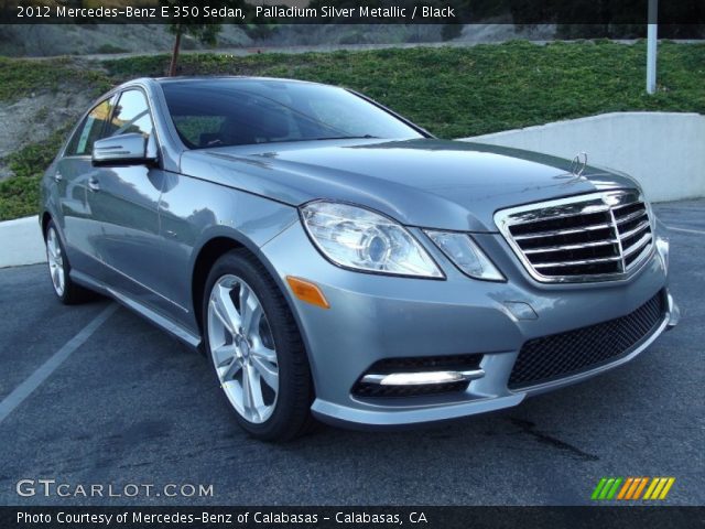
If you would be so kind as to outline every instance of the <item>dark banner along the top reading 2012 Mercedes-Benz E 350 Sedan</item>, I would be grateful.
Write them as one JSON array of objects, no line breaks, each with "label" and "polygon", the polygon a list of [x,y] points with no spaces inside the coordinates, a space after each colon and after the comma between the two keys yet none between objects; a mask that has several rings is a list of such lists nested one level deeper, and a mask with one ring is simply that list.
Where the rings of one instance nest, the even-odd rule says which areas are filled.
[{"label": "dark banner along the top reading 2012 Mercedes-Benz E 350 Sedan", "polygon": [[[705,24],[703,0],[0,0],[0,23],[170,24]],[[655,3],[655,2],[654,2]]]}]

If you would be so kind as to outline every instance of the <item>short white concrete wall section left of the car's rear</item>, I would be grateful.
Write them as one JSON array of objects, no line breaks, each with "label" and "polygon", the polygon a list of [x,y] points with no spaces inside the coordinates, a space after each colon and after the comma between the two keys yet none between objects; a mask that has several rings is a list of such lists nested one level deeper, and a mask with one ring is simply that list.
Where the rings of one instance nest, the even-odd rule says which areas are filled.
[{"label": "short white concrete wall section left of the car's rear", "polygon": [[0,268],[46,261],[36,215],[0,223]]}]

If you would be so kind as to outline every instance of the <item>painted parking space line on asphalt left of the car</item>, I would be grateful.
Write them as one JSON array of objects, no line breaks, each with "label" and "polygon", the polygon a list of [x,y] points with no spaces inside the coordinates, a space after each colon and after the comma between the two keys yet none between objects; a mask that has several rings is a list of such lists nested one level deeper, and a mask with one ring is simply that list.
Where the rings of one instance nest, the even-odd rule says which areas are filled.
[{"label": "painted parking space line on asphalt left of the car", "polygon": [[61,349],[54,353],[44,364],[42,364],[42,366],[30,375],[26,380],[14,388],[14,390],[8,395],[2,402],[0,402],[0,423],[2,423],[2,421],[4,421],[8,415],[24,401],[24,399],[32,395],[32,392],[39,388],[74,350],[80,347],[90,337],[90,335],[112,315],[118,306],[119,305],[117,303],[110,303],[106,306],[102,312],[94,317],[76,336],[66,342]]}]

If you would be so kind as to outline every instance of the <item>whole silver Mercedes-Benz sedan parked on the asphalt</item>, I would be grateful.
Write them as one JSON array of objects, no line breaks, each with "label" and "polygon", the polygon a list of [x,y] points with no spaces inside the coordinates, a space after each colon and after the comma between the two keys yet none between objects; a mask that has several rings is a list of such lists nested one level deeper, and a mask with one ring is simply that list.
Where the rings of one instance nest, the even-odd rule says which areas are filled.
[{"label": "whole silver Mercedes-Benz sedan parked on the asphalt", "polygon": [[633,180],[438,140],[343,88],[127,83],[41,191],[58,298],[101,292],[202,348],[260,439],[514,406],[677,320]]}]

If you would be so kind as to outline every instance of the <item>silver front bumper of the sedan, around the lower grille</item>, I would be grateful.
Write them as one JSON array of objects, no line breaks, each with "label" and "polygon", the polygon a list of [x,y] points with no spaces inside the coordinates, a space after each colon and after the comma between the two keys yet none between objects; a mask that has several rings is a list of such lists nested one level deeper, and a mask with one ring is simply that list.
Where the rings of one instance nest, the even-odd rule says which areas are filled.
[{"label": "silver front bumper of the sedan, around the lower grille", "polygon": [[[417,229],[412,229],[446,280],[397,278],[337,268],[313,247],[299,223],[261,248],[284,285],[286,276],[314,281],[330,309],[296,300],[284,288],[310,355],[316,399],[313,413],[351,427],[393,427],[443,421],[516,406],[527,396],[589,378],[629,361],[669,324],[677,307],[665,290],[668,256],[655,251],[626,281],[538,284],[498,234],[475,235],[508,281],[462,274]],[[511,390],[510,374],[522,345],[632,313],[659,292],[660,320],[612,361],[540,385]],[[352,392],[376,363],[393,358],[482,355],[467,389],[438,395],[377,398]],[[436,374],[437,375],[437,374]]]}]

